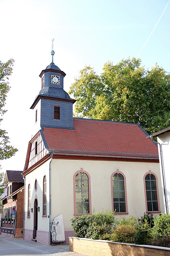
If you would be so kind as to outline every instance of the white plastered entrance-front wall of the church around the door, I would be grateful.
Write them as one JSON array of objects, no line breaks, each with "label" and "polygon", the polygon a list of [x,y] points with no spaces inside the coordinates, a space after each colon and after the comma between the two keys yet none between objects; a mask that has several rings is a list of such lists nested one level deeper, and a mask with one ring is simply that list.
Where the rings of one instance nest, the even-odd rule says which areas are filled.
[{"label": "white plastered entrance-front wall of the church around the door", "polygon": [[[25,193],[25,229],[34,229],[34,202],[37,198],[40,212],[38,212],[38,230],[48,231],[49,230],[49,161],[42,164],[40,167],[26,175],[26,193]],[[43,177],[46,176],[46,198],[47,198],[47,216],[42,217],[42,198],[43,198]],[[38,181],[38,188],[35,191],[35,180]],[[31,208],[30,218],[27,217],[28,210],[28,185],[30,184],[30,198]]]}]

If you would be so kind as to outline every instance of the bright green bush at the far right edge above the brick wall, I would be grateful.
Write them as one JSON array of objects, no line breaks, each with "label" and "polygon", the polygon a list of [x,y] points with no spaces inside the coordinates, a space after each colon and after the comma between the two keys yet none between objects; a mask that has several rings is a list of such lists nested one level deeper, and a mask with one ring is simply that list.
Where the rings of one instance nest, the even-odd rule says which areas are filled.
[{"label": "bright green bush at the far right edge above the brick wall", "polygon": [[154,219],[152,236],[154,245],[170,246],[170,214],[162,214]]}]

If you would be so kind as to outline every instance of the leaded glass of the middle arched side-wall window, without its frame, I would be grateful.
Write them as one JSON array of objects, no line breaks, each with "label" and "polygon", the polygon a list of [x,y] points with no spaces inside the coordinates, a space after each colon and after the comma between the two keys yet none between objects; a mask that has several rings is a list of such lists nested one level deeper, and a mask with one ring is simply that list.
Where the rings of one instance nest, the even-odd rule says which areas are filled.
[{"label": "leaded glass of the middle arched side-wall window, without its frame", "polygon": [[125,186],[122,174],[115,173],[112,177],[114,211],[126,212]]}]

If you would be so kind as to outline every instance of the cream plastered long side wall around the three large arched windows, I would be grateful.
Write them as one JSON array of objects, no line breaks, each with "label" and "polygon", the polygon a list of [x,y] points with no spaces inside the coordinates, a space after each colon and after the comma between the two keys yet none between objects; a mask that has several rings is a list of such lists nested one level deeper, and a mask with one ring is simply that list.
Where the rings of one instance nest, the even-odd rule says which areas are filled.
[{"label": "cream plastered long side wall around the three large arched windows", "polygon": [[146,212],[143,176],[149,170],[158,177],[160,210],[164,212],[159,163],[61,160],[53,159],[51,165],[51,221],[63,214],[65,231],[71,230],[74,214],[73,175],[83,168],[91,177],[92,210],[112,209],[111,174],[119,169],[126,176],[128,213],[140,217]]}]

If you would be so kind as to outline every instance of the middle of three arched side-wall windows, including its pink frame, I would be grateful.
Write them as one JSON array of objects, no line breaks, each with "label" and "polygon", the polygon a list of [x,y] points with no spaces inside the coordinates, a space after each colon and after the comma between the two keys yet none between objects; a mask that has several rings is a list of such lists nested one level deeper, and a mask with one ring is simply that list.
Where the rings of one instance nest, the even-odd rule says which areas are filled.
[{"label": "middle of three arched side-wall windows, including its pink frame", "polygon": [[119,214],[128,213],[126,178],[125,175],[117,170],[111,175],[112,186],[112,210]]}]

